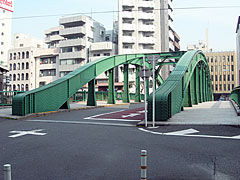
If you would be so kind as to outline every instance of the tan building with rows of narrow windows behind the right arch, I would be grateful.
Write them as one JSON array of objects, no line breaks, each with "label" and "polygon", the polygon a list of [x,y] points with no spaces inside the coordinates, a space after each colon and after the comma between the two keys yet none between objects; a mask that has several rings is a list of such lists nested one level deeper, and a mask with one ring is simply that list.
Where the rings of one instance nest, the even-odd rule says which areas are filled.
[{"label": "tan building with rows of narrow windows behind the right arch", "polygon": [[234,51],[206,53],[214,99],[227,98],[237,82],[237,56]]}]

